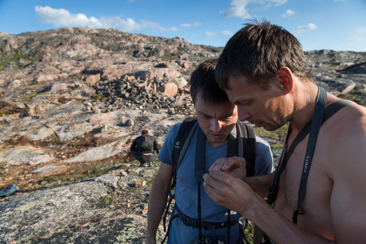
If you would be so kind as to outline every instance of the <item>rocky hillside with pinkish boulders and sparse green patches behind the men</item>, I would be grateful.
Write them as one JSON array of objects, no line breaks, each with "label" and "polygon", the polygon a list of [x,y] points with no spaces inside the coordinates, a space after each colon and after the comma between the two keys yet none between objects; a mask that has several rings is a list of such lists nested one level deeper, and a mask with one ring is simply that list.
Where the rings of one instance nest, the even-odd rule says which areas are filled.
[{"label": "rocky hillside with pinkish boulders and sparse green patches behind the men", "polygon": [[[221,50],[113,29],[0,32],[0,242],[143,243],[158,162],[137,167],[131,140],[148,129],[162,144],[193,114],[189,75]],[[366,53],[306,55],[317,84],[365,105]],[[278,158],[283,130],[258,133]]]}]

